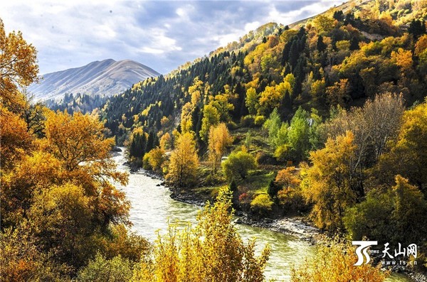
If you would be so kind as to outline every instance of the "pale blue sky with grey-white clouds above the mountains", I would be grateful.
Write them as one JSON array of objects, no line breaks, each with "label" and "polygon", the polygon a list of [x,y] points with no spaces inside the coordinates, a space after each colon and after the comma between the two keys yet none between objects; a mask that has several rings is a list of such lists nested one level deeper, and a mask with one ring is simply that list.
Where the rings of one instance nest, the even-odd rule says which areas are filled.
[{"label": "pale blue sky with grey-white clouds above the mountains", "polygon": [[6,33],[22,31],[41,74],[131,59],[166,74],[258,26],[289,24],[341,1],[0,1]]}]

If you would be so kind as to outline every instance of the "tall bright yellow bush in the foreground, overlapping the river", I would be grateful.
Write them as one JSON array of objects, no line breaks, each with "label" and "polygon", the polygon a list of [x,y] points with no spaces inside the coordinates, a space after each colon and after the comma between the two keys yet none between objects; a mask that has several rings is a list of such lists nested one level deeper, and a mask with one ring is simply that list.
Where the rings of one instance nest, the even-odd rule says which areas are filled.
[{"label": "tall bright yellow bush in the foreground, overlapping the river", "polygon": [[243,244],[231,224],[231,192],[221,188],[197,217],[198,225],[169,226],[151,260],[135,267],[132,281],[264,281],[268,247],[255,256],[255,240]]}]

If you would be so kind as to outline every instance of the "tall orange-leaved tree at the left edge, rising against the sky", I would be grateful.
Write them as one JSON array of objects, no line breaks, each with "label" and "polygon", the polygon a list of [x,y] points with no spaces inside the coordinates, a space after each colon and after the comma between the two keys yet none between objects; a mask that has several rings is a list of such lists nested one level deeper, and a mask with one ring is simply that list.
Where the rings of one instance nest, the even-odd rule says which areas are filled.
[{"label": "tall orange-leaved tree at the left edge, rising against the sky", "polygon": [[21,119],[26,106],[22,94],[37,80],[36,48],[26,43],[22,33],[6,35],[0,18],[0,161],[2,170],[11,166],[31,147],[31,132]]}]

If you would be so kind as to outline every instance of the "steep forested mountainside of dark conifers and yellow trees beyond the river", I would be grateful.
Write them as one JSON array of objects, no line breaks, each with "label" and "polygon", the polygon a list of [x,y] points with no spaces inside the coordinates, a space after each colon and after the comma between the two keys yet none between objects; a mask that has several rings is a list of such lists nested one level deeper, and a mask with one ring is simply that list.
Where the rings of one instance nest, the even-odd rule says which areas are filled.
[{"label": "steep forested mountainside of dark conifers and yellow trees beyond the river", "polygon": [[101,118],[118,143],[141,130],[180,130],[191,119],[203,151],[200,131],[212,111],[238,128],[260,126],[275,108],[283,121],[300,107],[325,120],[384,92],[411,106],[426,96],[426,19],[426,1],[354,0],[288,26],[268,23],[110,97]]}]

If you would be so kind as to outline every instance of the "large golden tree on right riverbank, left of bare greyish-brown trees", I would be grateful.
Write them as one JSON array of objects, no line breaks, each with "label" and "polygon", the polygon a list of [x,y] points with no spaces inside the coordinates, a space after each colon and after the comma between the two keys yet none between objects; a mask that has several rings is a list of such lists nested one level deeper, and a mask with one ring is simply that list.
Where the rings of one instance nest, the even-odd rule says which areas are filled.
[{"label": "large golden tree on right riverbank, left of bare greyish-brown trees", "polygon": [[312,166],[302,173],[302,187],[307,202],[313,204],[310,217],[319,228],[342,228],[344,211],[357,200],[352,172],[356,148],[354,135],[347,131],[310,153]]}]

